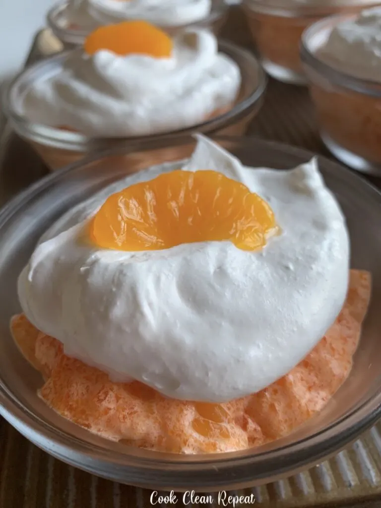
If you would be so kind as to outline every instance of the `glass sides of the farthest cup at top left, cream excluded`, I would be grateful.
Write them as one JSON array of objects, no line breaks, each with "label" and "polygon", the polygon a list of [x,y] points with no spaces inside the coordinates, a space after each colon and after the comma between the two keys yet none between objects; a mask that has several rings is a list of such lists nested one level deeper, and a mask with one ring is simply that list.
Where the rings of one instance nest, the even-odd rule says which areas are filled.
[{"label": "glass sides of the farthest cup at top left, cream excluded", "polygon": [[[213,0],[212,10],[206,18],[185,25],[161,26],[161,28],[171,36],[180,30],[195,27],[210,28],[215,35],[218,35],[225,22],[228,9],[229,6],[224,0]],[[48,11],[46,19],[53,34],[69,49],[73,46],[81,46],[90,31],[98,26],[98,23],[94,22],[94,25],[87,27],[70,25],[67,11],[68,2],[59,2]]]}]

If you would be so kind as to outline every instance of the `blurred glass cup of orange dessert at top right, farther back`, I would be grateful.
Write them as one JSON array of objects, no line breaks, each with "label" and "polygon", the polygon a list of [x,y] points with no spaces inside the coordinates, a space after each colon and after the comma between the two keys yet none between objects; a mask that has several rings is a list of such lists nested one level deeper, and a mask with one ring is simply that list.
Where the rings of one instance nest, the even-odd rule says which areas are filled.
[{"label": "blurred glass cup of orange dessert at top right, farther back", "polygon": [[284,83],[306,84],[299,56],[303,31],[310,24],[337,13],[356,13],[377,2],[351,0],[331,4],[289,5],[271,0],[244,0],[247,21],[265,70]]}]

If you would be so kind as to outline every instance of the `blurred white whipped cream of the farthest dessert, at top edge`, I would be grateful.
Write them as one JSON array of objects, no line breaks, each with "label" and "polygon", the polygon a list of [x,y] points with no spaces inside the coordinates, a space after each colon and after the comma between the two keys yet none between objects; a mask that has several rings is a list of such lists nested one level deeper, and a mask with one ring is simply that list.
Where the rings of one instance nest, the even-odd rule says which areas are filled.
[{"label": "blurred white whipped cream of the farthest dessert, at top edge", "polygon": [[71,0],[67,17],[82,27],[130,19],[170,27],[201,21],[211,8],[211,0]]}]

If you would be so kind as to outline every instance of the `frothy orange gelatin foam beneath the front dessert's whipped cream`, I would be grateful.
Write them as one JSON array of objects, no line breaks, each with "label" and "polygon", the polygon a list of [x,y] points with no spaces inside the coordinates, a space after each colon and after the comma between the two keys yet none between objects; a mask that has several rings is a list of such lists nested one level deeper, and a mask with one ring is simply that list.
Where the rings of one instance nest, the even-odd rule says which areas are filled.
[{"label": "frothy orange gelatin foam beneath the front dessert's whipped cream", "polygon": [[236,451],[289,434],[327,404],[350,373],[370,285],[368,272],[352,270],[339,316],[307,357],[268,388],[224,404],[168,399],[137,381],[112,383],[101,370],[66,356],[58,340],[36,330],[23,314],[13,317],[11,330],[44,375],[40,396],[72,422],[152,450]]}]

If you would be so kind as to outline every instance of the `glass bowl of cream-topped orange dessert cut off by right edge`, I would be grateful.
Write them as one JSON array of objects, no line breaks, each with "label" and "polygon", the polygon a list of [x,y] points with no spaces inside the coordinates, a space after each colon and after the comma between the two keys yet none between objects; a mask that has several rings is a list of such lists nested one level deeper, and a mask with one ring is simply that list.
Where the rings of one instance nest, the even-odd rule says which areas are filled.
[{"label": "glass bowl of cream-topped orange dessert cut off by right edge", "polygon": [[301,58],[328,149],[348,166],[381,176],[381,60],[372,48],[377,19],[380,8],[312,25],[303,35]]}]

